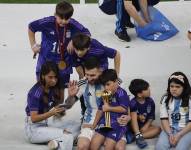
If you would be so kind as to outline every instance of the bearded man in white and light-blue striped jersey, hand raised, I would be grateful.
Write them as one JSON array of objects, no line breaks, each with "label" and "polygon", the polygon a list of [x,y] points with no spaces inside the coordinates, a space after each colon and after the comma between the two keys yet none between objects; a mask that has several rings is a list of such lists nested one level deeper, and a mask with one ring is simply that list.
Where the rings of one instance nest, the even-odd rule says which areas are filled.
[{"label": "bearded man in white and light-blue striped jersey, hand raised", "polygon": [[[81,96],[84,97],[86,106],[81,132],[78,136],[77,149],[89,150],[94,130],[92,128],[99,105],[101,104],[101,95],[104,87],[99,82],[99,77],[102,74],[99,61],[96,57],[88,58],[84,63],[85,79],[82,79],[78,84],[71,81],[68,86],[69,97],[66,99],[66,104],[73,105]],[[118,122],[126,126],[130,117],[127,115],[118,116]],[[118,145],[126,145],[126,139],[120,140]]]}]

